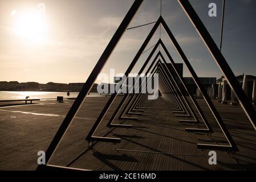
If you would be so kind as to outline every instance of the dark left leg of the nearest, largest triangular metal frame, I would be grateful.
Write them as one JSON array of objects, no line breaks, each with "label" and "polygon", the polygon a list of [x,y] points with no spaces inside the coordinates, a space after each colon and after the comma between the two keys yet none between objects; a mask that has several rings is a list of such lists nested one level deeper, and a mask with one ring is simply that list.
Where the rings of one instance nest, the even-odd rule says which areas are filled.
[{"label": "dark left leg of the nearest, largest triangular metal frame", "polygon": [[[133,2],[128,13],[125,15],[120,26],[117,28],[115,34],[113,35],[110,42],[108,43],[108,46],[105,48],[104,52],[100,56],[100,59],[97,61],[97,64],[92,70],[90,76],[87,78],[87,81],[85,82],[83,88],[79,92],[78,97],[76,97],[76,100],[74,101],[66,117],[64,118],[62,124],[60,125],[58,131],[56,132],[54,138],[52,139],[50,146],[47,148],[46,165],[38,165],[38,168],[37,168],[38,170],[47,169],[50,167],[61,168],[60,166],[52,166],[48,163],[52,158],[52,155],[54,154],[56,148],[59,146],[59,143],[61,142],[62,138],[64,137],[64,134],[68,130],[68,127],[71,125],[71,122],[75,118],[75,115],[78,113],[78,110],[80,109],[84,100],[86,99],[87,94],[90,92],[92,85],[94,84],[101,69],[104,67],[105,63],[107,63],[109,56],[111,55],[112,51],[115,49],[117,43],[121,39],[121,36],[123,36],[124,32],[127,30],[127,27],[129,23],[132,21],[133,16],[135,16],[135,14],[137,13],[137,10],[139,9],[141,3],[143,3],[143,0],[135,0]],[[65,169],[74,170],[74,168],[65,168]]]}]

